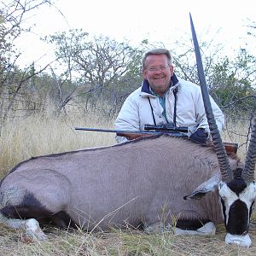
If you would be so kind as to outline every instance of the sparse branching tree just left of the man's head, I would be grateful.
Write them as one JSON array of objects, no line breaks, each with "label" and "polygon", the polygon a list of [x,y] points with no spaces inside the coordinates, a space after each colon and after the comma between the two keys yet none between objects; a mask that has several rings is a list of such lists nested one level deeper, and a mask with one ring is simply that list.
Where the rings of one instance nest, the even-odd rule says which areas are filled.
[{"label": "sparse branching tree just left of the man's head", "polygon": [[[77,90],[69,90],[72,96],[67,91],[62,95],[66,94],[69,98],[79,96],[85,109],[97,108],[101,103],[112,106],[102,108],[105,113],[117,111],[120,99],[127,96],[129,84],[123,82],[137,70],[140,50],[108,37],[90,38],[82,30],[56,33],[45,40],[55,44],[55,55],[62,67],[62,80],[77,84]],[[128,88],[128,92],[132,89]]]}]

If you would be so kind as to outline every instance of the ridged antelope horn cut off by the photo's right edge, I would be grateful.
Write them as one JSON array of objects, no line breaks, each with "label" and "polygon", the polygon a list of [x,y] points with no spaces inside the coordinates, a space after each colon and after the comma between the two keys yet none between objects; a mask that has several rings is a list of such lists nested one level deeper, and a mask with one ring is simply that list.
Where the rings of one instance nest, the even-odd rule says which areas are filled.
[{"label": "ridged antelope horn cut off by the photo's right edge", "polygon": [[254,180],[254,170],[256,165],[256,116],[253,119],[252,134],[247,151],[247,158],[244,171],[241,173],[241,177],[250,183]]}]

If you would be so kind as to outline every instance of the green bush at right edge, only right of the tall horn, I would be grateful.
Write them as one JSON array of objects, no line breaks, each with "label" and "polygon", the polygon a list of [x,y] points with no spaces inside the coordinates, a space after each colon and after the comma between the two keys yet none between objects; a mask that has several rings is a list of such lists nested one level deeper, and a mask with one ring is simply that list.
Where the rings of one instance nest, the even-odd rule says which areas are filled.
[{"label": "green bush at right edge, only right of the tall horn", "polygon": [[255,64],[256,58],[241,49],[234,61],[224,57],[213,65],[209,76],[212,84],[210,92],[225,113],[234,117],[253,113]]}]

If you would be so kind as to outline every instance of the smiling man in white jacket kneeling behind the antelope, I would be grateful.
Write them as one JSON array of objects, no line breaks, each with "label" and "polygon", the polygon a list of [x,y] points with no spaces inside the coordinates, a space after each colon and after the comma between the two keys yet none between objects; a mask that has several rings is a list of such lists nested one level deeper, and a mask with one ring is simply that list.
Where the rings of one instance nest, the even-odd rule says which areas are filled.
[{"label": "smiling man in white jacket kneeling behind the antelope", "polygon": [[[210,135],[201,88],[189,81],[177,79],[173,71],[172,56],[167,49],[153,49],[143,57],[143,84],[128,96],[122,106],[115,129],[143,131],[144,125],[173,123],[188,126],[188,136],[205,143]],[[224,114],[213,101],[212,110],[218,130],[224,128]],[[121,134],[118,143],[143,137],[143,134]]]}]

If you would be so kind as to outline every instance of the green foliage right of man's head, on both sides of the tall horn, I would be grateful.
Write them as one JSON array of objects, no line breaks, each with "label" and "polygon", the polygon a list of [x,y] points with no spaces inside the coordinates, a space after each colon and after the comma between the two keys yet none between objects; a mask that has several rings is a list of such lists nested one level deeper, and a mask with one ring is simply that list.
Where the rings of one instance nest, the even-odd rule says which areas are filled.
[{"label": "green foliage right of man's head, on both sides of the tall horn", "polygon": [[[178,77],[200,84],[192,45],[182,44],[174,52],[175,72]],[[212,42],[201,44],[201,56],[207,85],[211,96],[224,113],[231,119],[250,119],[255,112],[256,56],[247,49],[240,49],[228,57],[220,51],[220,45],[212,47]]]}]

